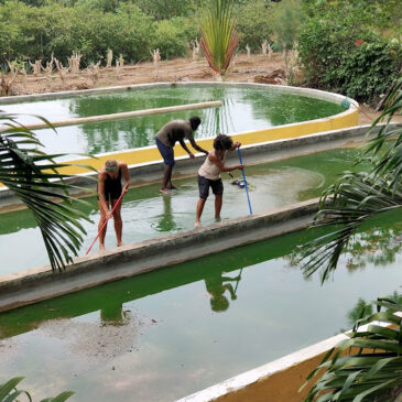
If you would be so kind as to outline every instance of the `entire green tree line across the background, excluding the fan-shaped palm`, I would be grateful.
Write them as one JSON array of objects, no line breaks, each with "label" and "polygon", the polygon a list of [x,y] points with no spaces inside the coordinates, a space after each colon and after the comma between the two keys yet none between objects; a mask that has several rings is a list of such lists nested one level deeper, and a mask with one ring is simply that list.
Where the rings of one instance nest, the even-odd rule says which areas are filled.
[{"label": "entire green tree line across the background, excluding the fan-shaped palm", "polygon": [[[402,67],[400,0],[232,0],[239,51],[296,48],[305,85],[374,104]],[[63,63],[73,52],[82,67],[108,48],[126,63],[191,54],[199,40],[202,0],[0,0],[0,68],[7,61]]]}]

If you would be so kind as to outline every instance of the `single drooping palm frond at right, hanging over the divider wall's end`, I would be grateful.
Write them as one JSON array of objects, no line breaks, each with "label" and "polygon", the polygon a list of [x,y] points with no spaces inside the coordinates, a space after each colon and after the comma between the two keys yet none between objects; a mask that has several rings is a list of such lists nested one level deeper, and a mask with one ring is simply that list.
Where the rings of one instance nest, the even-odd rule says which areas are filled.
[{"label": "single drooping palm frond at right, hanging over the divider wall's end", "polygon": [[401,184],[390,189],[381,177],[346,173],[323,195],[320,209],[312,225],[334,229],[301,247],[302,260],[305,260],[302,267],[304,274],[309,276],[320,270],[322,282],[327,280],[337,268],[351,236],[362,224],[401,207]]}]

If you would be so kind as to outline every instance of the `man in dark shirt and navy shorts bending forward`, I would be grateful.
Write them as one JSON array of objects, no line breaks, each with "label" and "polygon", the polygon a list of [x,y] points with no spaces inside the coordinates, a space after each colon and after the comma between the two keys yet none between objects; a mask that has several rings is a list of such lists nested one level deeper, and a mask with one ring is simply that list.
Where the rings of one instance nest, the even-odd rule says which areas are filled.
[{"label": "man in dark shirt and navy shorts bending forward", "polygon": [[206,155],[208,151],[203,150],[196,144],[194,140],[194,131],[197,130],[200,124],[199,117],[192,117],[188,121],[186,120],[173,120],[167,124],[163,126],[156,134],[156,146],[161,152],[163,162],[165,164],[162,186],[160,192],[163,194],[171,194],[171,189],[176,188],[172,184],[172,171],[174,166],[174,145],[176,141],[180,142],[184,151],[188,153],[191,159],[194,159],[194,154],[188,150],[184,139],[188,140],[192,146],[198,152],[204,152]]}]

